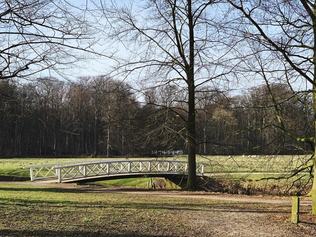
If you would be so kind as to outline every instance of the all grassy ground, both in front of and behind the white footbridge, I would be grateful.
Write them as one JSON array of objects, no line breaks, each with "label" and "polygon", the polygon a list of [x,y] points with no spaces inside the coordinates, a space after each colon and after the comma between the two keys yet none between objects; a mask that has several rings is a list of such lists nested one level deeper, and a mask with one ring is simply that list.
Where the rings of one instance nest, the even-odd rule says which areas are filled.
[{"label": "all grassy ground, both in front of and behind the white footbridge", "polygon": [[[177,158],[183,160],[185,157]],[[224,191],[227,188],[233,193],[246,193],[244,191],[250,190],[249,194],[260,195],[282,194],[291,186],[290,181],[241,180],[245,177],[264,177],[267,174],[261,173],[263,170],[285,172],[294,167],[294,164],[304,162],[303,157],[292,159],[290,156],[282,156],[273,159],[242,156],[215,156],[206,159],[198,157],[198,161],[208,162],[206,171],[210,172],[212,169],[218,172],[215,178],[212,176],[212,180],[217,182],[215,187]],[[23,169],[23,166],[73,160],[78,159],[0,159],[0,175],[29,176],[29,170]],[[252,165],[253,168],[250,167]],[[0,236],[316,235],[316,219],[310,214],[310,206],[301,206],[302,222],[293,225],[289,222],[290,204],[277,204],[274,201],[265,203],[265,198],[261,198],[263,202],[237,202],[234,201],[236,196],[230,196],[233,199],[228,200],[223,197],[207,199],[206,193],[198,192],[163,191],[165,194],[159,195],[150,190],[140,190],[136,194],[117,191],[117,187],[121,186],[146,188],[148,180],[126,179],[91,184],[110,188],[0,182]],[[159,179],[153,179],[155,181]],[[170,185],[167,188],[177,187]],[[206,188],[217,191],[212,190],[214,186]],[[300,192],[295,187],[293,190],[288,194]]]}]

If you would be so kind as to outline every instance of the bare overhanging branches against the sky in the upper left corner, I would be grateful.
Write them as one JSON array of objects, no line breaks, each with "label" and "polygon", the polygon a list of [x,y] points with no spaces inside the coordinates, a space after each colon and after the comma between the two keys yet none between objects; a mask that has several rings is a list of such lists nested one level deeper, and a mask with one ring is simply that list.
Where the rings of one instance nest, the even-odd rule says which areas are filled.
[{"label": "bare overhanging branches against the sky in the upper left corner", "polygon": [[63,0],[0,1],[0,79],[73,67],[93,52],[91,17]]}]

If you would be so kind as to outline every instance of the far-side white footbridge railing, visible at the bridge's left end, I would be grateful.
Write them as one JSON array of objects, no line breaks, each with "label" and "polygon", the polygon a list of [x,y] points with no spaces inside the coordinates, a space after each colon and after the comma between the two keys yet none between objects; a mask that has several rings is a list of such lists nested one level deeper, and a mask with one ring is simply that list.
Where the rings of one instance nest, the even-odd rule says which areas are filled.
[{"label": "far-side white footbridge railing, visible at the bridge's left end", "polygon": [[57,178],[58,174],[55,168],[59,166],[76,165],[76,164],[100,162],[100,161],[104,161],[104,160],[100,159],[100,160],[67,161],[67,162],[59,162],[59,163],[51,163],[51,164],[24,166],[23,168],[30,169],[31,181],[35,181],[35,180]]}]

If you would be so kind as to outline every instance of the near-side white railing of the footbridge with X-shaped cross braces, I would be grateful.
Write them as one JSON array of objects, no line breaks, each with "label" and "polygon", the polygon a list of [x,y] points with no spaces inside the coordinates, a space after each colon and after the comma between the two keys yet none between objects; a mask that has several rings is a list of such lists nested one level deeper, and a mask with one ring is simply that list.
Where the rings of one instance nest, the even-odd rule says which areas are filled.
[{"label": "near-side white railing of the footbridge with X-shaped cross braces", "polygon": [[[58,182],[103,175],[132,173],[186,174],[188,163],[175,160],[116,160],[57,166]],[[196,163],[196,173],[203,175],[204,164]]]}]

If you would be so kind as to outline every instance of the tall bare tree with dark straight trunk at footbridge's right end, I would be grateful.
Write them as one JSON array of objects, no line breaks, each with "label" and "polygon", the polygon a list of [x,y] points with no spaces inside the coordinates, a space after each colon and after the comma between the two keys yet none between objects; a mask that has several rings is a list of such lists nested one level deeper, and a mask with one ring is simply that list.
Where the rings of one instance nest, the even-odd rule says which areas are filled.
[{"label": "tall bare tree with dark straight trunk at footbridge's right end", "polygon": [[[141,93],[167,84],[179,88],[173,103],[155,106],[172,110],[185,123],[189,189],[197,188],[195,92],[205,84],[216,87],[230,72],[222,67],[229,47],[214,22],[213,12],[221,11],[217,3],[157,0],[102,5],[111,27],[110,37],[131,55],[120,60],[118,72],[137,78]],[[179,104],[184,106],[179,108]]]}]

